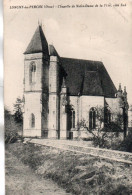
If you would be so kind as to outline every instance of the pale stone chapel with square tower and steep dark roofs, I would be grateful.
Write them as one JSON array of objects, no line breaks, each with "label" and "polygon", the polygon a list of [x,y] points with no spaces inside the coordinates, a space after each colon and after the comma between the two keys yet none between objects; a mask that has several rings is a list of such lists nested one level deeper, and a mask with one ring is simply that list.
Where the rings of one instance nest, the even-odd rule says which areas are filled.
[{"label": "pale stone chapel with square tower and steep dark roofs", "polygon": [[24,137],[76,138],[82,120],[98,127],[97,107],[106,108],[107,123],[121,111],[121,99],[127,101],[126,89],[116,90],[102,62],[60,57],[41,25],[24,56]]}]

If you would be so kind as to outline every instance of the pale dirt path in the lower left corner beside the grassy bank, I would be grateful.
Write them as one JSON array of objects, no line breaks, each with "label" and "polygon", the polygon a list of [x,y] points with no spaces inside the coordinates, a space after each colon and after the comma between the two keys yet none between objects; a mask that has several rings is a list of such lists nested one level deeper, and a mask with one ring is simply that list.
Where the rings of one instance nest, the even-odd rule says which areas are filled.
[{"label": "pale dirt path in the lower left corner beside the grassy bank", "polygon": [[6,151],[6,195],[71,195],[51,180],[40,178]]}]

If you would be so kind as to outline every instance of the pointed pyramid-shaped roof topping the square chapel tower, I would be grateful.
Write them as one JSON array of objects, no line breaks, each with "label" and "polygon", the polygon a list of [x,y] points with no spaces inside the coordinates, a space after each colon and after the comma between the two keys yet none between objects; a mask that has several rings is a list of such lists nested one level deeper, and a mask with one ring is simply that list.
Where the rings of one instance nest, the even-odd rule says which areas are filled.
[{"label": "pointed pyramid-shaped roof topping the square chapel tower", "polygon": [[48,43],[43,33],[42,27],[39,25],[24,54],[40,52],[48,55]]}]

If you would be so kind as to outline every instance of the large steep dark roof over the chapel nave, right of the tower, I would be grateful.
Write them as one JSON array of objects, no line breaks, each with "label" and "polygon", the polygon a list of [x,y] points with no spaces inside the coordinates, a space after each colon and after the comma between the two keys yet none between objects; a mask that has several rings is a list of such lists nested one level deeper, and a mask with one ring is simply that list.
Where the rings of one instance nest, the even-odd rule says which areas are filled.
[{"label": "large steep dark roof over the chapel nave, right of the tower", "polygon": [[69,95],[115,97],[117,92],[102,62],[61,57]]}]

